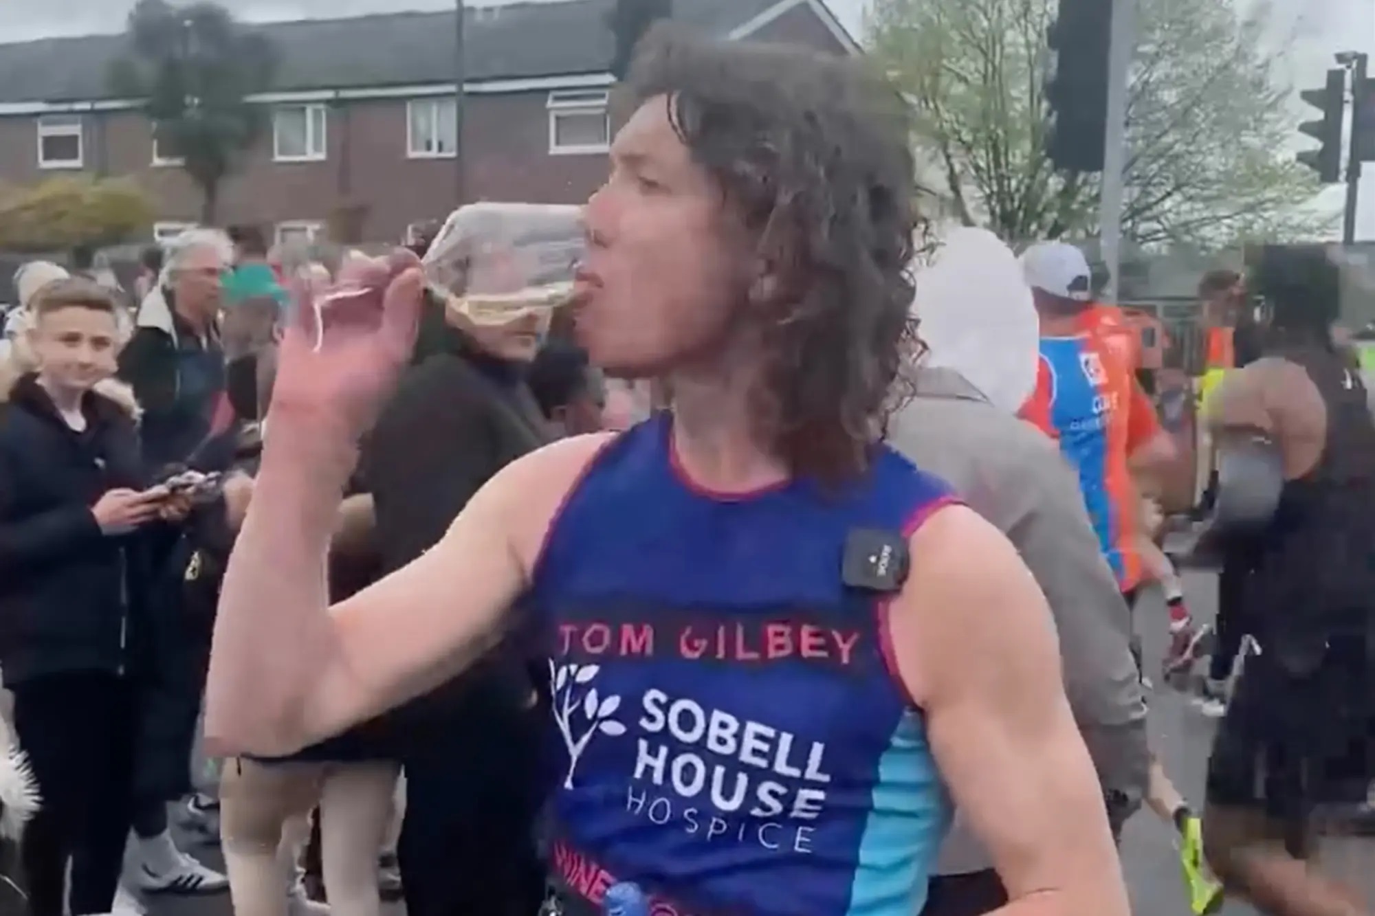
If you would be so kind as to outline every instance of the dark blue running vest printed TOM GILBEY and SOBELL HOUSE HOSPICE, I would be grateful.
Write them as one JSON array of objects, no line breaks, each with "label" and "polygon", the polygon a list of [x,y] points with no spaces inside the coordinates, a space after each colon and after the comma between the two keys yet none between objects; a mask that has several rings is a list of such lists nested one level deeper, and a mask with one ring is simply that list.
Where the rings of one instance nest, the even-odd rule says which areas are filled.
[{"label": "dark blue running vest printed TOM GILBEY and SOBELL HOUSE HOSPICE", "polygon": [[657,916],[912,916],[949,824],[855,528],[910,535],[949,490],[888,448],[839,494],[714,497],[660,414],[553,521],[529,594],[553,640],[551,871]]}]

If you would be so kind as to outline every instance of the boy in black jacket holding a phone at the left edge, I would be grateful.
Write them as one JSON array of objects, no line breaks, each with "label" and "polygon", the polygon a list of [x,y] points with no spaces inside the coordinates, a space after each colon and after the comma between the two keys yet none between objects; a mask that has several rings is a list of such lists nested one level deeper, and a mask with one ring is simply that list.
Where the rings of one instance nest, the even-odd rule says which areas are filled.
[{"label": "boy in black jacket holding a phone at the left edge", "polygon": [[129,831],[131,681],[147,528],[184,513],[146,488],[131,403],[94,391],[116,369],[116,303],[84,279],[33,304],[37,371],[0,406],[0,664],[43,809],[22,858],[34,916],[111,909]]}]

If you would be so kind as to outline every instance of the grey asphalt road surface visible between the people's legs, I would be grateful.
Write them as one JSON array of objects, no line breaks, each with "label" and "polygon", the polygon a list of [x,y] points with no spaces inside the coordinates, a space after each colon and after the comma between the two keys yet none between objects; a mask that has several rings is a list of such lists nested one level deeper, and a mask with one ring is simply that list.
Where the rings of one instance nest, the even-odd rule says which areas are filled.
[{"label": "grey asphalt road surface visible between the people's legs", "polygon": [[[1216,578],[1207,574],[1185,574],[1189,607],[1199,620],[1211,620],[1217,612]],[[1148,673],[1160,667],[1165,651],[1166,613],[1160,600],[1148,594],[1137,609],[1137,630],[1145,649]],[[1195,711],[1178,693],[1156,682],[1151,696],[1151,737],[1180,791],[1200,806],[1203,777],[1214,723]],[[219,866],[219,851],[195,849],[206,864]],[[1368,899],[1375,899],[1375,840],[1349,840],[1341,850],[1341,861],[1353,864],[1356,873],[1365,875]],[[1180,877],[1178,857],[1174,851],[1174,832],[1143,810],[1126,827],[1122,840],[1122,860],[1132,891],[1136,916],[1188,916],[1188,902]],[[1364,868],[1361,868],[1364,864]],[[402,916],[403,908],[388,906],[385,916]],[[1222,916],[1254,916],[1250,906],[1228,904]],[[158,898],[153,901],[151,916],[232,916],[228,895],[201,899]]]}]

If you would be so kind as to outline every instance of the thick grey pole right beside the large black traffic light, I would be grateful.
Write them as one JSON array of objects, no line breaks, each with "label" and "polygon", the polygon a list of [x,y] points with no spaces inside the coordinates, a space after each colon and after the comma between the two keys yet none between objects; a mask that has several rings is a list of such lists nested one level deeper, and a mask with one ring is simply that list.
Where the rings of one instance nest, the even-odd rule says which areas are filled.
[{"label": "thick grey pole right beside the large black traffic light", "polygon": [[1122,270],[1122,201],[1126,171],[1126,102],[1132,78],[1132,55],[1136,51],[1137,0],[1112,0],[1112,43],[1108,51],[1108,114],[1103,138],[1103,194],[1099,206],[1099,232],[1108,283],[1104,297],[1118,301]]}]

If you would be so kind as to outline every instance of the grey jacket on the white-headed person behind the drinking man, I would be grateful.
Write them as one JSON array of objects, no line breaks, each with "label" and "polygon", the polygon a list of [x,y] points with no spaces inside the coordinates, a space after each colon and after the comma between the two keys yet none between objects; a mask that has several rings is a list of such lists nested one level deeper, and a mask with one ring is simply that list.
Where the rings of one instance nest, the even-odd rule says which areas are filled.
[{"label": "grey jacket on the white-headed person behind the drinking man", "polygon": [[[1022,553],[1055,616],[1070,707],[1119,825],[1145,794],[1145,700],[1128,607],[1099,550],[1078,477],[1053,441],[952,369],[917,370],[917,396],[892,418],[888,441],[946,479]],[[990,866],[957,813],[936,873]]]}]

